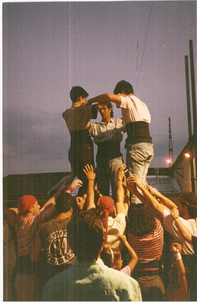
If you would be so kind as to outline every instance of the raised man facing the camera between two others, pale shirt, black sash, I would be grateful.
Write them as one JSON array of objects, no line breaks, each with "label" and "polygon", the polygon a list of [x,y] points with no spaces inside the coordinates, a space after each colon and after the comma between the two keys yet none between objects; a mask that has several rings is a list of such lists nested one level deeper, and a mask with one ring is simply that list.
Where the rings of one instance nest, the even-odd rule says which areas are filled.
[{"label": "raised man facing the camera between two others, pale shirt, black sash", "polygon": [[122,165],[120,142],[124,132],[122,119],[112,119],[114,116],[112,104],[108,103],[99,110],[102,121],[92,123],[89,133],[98,146],[96,155],[96,182],[103,196],[109,196],[110,182],[112,198],[116,201],[116,174]]}]

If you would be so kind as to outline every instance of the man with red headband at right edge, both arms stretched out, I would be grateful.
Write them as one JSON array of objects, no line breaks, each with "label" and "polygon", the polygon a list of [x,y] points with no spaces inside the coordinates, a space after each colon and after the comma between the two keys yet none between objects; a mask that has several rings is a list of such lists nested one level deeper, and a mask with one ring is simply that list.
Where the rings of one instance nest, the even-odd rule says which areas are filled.
[{"label": "man with red headband at right edge, both arms stretched out", "polygon": [[[136,186],[142,191],[144,196],[137,191]],[[196,277],[194,278],[194,276],[196,276],[194,248],[191,241],[188,241],[182,233],[180,233],[176,225],[176,219],[179,218],[192,236],[197,236],[197,223],[195,221],[197,217],[197,196],[192,192],[182,192],[177,206],[173,201],[158,192],[157,189],[149,185],[145,188],[136,175],[129,178],[129,191],[135,194],[141,202],[151,205],[158,211],[158,214],[163,218],[164,229],[173,236],[178,244],[181,244],[182,261],[184,266],[189,269],[186,270],[186,272],[188,272],[186,278],[190,291],[190,300],[195,301],[192,300],[196,299],[194,288],[196,287],[197,281]],[[160,202],[153,196],[159,198]],[[179,212],[179,215],[176,217],[173,217],[172,213],[170,213],[173,209],[177,209]]]}]

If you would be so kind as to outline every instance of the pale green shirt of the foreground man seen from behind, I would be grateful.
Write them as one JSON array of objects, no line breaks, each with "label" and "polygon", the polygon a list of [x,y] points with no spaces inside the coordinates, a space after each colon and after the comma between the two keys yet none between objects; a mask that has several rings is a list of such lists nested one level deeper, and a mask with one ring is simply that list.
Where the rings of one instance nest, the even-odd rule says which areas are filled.
[{"label": "pale green shirt of the foreground man seen from behind", "polygon": [[142,301],[139,284],[130,276],[96,262],[76,261],[44,287],[43,301]]}]

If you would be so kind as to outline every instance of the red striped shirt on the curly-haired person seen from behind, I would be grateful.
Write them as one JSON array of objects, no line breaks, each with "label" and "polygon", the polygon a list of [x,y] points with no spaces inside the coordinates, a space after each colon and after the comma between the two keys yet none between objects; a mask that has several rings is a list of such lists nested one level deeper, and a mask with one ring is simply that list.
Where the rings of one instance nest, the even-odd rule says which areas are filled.
[{"label": "red striped shirt on the curly-haired person seen from behind", "polygon": [[128,242],[140,263],[160,260],[163,251],[163,227],[160,220],[155,218],[155,230],[147,235],[137,237],[128,233]]}]

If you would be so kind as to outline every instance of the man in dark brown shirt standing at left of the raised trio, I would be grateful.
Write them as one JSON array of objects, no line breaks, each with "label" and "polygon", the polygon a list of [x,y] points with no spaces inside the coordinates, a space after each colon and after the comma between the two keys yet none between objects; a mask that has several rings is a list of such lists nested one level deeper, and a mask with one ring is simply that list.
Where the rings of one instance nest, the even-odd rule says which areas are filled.
[{"label": "man in dark brown shirt standing at left of the raised trio", "polygon": [[[63,113],[63,118],[70,132],[69,162],[71,165],[71,179],[76,176],[81,179],[83,186],[78,195],[86,193],[87,181],[83,173],[85,165],[94,167],[94,145],[89,135],[90,119],[97,118],[98,105],[91,105],[86,98],[88,93],[80,86],[73,86],[70,98],[73,105]],[[86,105],[86,106],[85,106]]]}]

